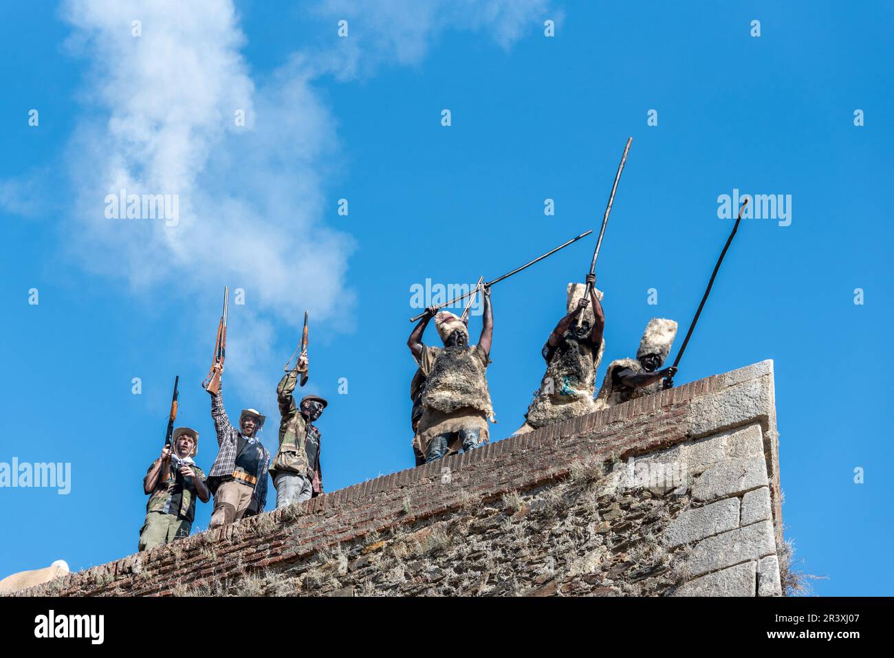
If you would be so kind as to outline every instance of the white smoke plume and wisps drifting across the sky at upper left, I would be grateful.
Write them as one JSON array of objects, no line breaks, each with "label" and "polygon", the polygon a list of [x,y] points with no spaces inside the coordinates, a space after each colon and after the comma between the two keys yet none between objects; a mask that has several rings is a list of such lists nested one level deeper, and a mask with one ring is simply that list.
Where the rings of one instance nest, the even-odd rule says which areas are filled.
[{"label": "white smoke plume and wisps drifting across the sky at upper left", "polygon": [[[508,48],[541,29],[547,4],[322,0],[311,11],[333,32],[349,20],[350,38],[296,52],[256,81],[232,0],[66,0],[74,28],[66,45],[89,64],[84,113],[66,150],[76,190],[63,227],[69,249],[90,271],[134,289],[168,284],[203,312],[198,331],[224,284],[244,288],[246,306],[237,314],[231,305],[228,381],[266,392],[257,371],[282,358],[271,351],[276,327],[297,327],[308,308],[315,323],[353,328],[346,273],[355,245],[325,222],[334,216],[325,182],[339,161],[336,122],[314,81],[419,63],[444,30],[485,30]],[[238,110],[244,127],[234,122]],[[20,183],[0,187],[13,210],[26,209]],[[122,189],[179,195],[178,224],[106,218],[106,195]],[[214,326],[205,329],[210,343]]]}]

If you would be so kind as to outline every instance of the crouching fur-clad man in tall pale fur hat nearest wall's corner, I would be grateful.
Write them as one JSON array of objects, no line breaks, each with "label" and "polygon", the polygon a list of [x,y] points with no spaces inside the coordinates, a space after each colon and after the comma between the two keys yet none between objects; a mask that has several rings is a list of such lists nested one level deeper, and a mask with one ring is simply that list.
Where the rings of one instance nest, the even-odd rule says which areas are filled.
[{"label": "crouching fur-clad man in tall pale fur hat nearest wall's corner", "polygon": [[596,397],[596,408],[605,409],[661,391],[662,379],[677,373],[677,368],[673,366],[658,370],[671,353],[676,336],[677,323],[673,320],[663,317],[649,320],[639,342],[637,359],[612,361],[605,371],[603,387]]}]

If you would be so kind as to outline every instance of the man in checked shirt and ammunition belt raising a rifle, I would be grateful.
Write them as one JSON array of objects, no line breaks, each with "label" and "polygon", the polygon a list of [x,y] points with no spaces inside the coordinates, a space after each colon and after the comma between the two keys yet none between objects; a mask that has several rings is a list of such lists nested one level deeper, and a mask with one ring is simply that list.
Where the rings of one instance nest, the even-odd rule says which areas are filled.
[{"label": "man in checked shirt and ammunition belt raising a rifle", "polygon": [[267,465],[270,463],[270,453],[257,439],[266,417],[257,409],[242,409],[240,429],[233,427],[223,409],[223,384],[221,391],[211,393],[211,418],[215,421],[220,450],[208,473],[208,488],[215,494],[215,510],[209,528],[225,526],[243,516],[264,511]]}]

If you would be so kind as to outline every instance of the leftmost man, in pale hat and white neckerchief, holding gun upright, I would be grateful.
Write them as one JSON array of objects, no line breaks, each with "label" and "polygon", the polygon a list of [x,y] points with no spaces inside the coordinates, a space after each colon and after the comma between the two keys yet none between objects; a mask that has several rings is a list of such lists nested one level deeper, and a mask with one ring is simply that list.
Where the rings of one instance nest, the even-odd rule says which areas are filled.
[{"label": "leftmost man, in pale hat and white neckerchief, holding gun upright", "polygon": [[190,427],[173,431],[173,451],[166,445],[143,478],[148,494],[146,523],[139,530],[139,550],[147,551],[189,536],[196,516],[196,497],[211,497],[205,473],[192,460],[198,451],[198,432]]}]

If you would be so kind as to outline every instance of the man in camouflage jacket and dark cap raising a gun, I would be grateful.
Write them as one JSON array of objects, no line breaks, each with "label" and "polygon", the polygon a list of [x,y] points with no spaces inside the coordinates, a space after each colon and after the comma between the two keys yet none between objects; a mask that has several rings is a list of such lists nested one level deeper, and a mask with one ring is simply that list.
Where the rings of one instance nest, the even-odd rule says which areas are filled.
[{"label": "man in camouflage jacket and dark cap raising a gun", "polygon": [[276,487],[277,510],[323,493],[321,434],[313,423],[323,414],[326,401],[318,395],[305,395],[296,405],[292,395],[299,372],[306,372],[307,365],[307,356],[301,355],[298,367],[283,375],[276,387],[276,400],[280,408],[280,443],[270,465],[270,476],[274,478]]}]

